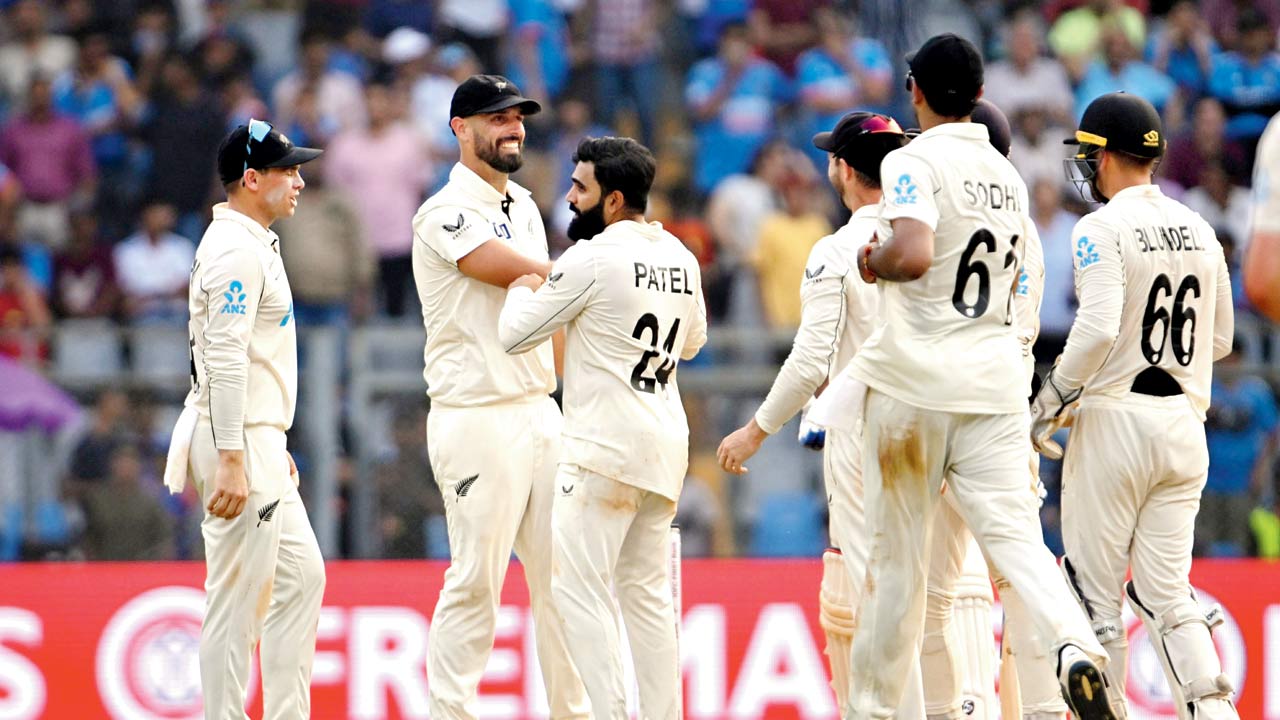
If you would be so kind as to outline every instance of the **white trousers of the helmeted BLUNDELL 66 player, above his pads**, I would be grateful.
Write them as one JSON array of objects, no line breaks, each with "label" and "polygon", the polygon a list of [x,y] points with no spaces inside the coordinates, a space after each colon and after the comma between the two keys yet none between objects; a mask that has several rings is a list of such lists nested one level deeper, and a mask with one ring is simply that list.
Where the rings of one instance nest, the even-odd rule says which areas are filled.
[{"label": "white trousers of the helmeted BLUNDELL 66 player, above his pads", "polygon": [[[1062,544],[1094,624],[1124,626],[1130,568],[1138,597],[1156,618],[1179,607],[1202,612],[1192,601],[1188,574],[1207,477],[1204,423],[1187,396],[1126,393],[1080,404],[1062,459]],[[1125,644],[1112,648],[1121,687]],[[1201,655],[1208,656],[1180,657],[1198,665],[1181,666],[1185,676],[1222,671],[1216,655]]]}]

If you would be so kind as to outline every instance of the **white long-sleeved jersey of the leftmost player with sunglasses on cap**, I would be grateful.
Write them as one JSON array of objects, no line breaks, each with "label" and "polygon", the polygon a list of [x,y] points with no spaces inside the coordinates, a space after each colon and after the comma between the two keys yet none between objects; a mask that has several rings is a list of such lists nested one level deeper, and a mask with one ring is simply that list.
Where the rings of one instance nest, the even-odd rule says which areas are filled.
[{"label": "white long-sleeved jersey of the leftmost player with sunglasses on cap", "polygon": [[298,340],[280,240],[225,202],[214,205],[188,291],[191,392],[218,450],[243,450],[244,428],[293,425]]}]

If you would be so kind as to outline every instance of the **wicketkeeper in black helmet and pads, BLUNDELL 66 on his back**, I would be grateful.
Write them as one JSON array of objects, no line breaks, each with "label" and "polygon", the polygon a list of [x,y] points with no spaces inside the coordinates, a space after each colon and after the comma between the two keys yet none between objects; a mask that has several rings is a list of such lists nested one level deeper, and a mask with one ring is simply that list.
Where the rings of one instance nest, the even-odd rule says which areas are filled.
[{"label": "wicketkeeper in black helmet and pads, BLUNDELL 66 on his back", "polygon": [[1103,95],[1069,142],[1080,146],[1068,168],[1082,193],[1088,184],[1105,205],[1071,233],[1080,307],[1032,406],[1033,442],[1061,455],[1051,436],[1079,405],[1062,461],[1062,566],[1111,656],[1117,716],[1128,596],[1178,716],[1234,719],[1211,619],[1188,582],[1213,360],[1234,331],[1226,259],[1208,223],[1151,182],[1165,137],[1149,102]]}]

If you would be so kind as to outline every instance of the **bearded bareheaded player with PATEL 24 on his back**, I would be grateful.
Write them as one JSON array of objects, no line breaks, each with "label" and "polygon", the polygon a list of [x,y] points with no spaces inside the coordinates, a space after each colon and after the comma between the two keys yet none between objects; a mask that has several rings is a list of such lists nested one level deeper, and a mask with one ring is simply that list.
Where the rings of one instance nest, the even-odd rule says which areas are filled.
[{"label": "bearded bareheaded player with PATEL 24 on his back", "polygon": [[[568,191],[579,242],[545,284],[512,283],[499,336],[524,354],[567,327],[552,589],[596,720],[626,720],[616,589],[640,717],[680,716],[667,542],[689,466],[676,372],[707,342],[698,260],[644,210],[655,164],[631,138],[585,138]],[[520,355],[517,355],[520,356]]]}]

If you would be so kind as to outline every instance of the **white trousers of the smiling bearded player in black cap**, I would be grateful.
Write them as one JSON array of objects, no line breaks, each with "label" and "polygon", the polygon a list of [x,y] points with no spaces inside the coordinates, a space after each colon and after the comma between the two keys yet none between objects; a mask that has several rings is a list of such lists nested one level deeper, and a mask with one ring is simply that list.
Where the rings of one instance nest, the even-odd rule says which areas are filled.
[{"label": "white trousers of the smiling bearded player in black cap", "polygon": [[493,651],[512,550],[525,568],[552,717],[589,716],[550,597],[552,493],[562,424],[548,396],[481,407],[434,405],[428,414],[428,454],[444,496],[452,557],[428,637],[434,720],[476,717],[476,687]]}]

